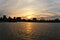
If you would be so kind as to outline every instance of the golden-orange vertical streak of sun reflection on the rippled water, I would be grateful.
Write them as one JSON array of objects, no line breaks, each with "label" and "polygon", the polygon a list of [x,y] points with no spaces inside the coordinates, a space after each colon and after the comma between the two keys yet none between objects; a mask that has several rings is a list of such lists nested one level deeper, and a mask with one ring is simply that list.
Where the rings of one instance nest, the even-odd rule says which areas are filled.
[{"label": "golden-orange vertical streak of sun reflection on the rippled water", "polygon": [[31,23],[27,23],[25,26],[25,39],[26,40],[32,40],[31,39],[31,35],[32,35],[32,24]]}]

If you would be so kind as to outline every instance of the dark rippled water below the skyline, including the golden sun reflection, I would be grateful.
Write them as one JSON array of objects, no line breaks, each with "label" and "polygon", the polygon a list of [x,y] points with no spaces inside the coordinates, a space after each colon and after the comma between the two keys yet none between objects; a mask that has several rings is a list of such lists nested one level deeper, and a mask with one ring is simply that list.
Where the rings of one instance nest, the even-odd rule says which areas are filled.
[{"label": "dark rippled water below the skyline, including the golden sun reflection", "polygon": [[0,23],[0,40],[60,40],[60,23]]}]

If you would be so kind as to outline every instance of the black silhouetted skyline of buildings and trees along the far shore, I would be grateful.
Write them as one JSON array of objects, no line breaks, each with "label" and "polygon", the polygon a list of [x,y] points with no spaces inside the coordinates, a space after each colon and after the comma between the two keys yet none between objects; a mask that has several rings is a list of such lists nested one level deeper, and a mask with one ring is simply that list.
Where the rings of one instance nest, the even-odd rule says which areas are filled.
[{"label": "black silhouetted skyline of buildings and trees along the far shore", "polygon": [[31,19],[22,19],[21,17],[6,17],[6,15],[3,15],[3,17],[0,17],[0,22],[60,22],[60,20],[58,18],[54,19],[54,20],[44,20],[44,19],[40,19],[37,20],[37,18],[32,18]]}]

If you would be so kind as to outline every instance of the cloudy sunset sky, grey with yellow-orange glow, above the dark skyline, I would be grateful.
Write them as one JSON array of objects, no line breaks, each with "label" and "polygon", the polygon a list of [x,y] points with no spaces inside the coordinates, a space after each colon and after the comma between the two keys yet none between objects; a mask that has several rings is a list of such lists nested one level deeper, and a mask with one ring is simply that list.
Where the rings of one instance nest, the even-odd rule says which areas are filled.
[{"label": "cloudy sunset sky, grey with yellow-orange glow, above the dark skyline", "polygon": [[0,16],[60,17],[60,0],[0,0]]}]

